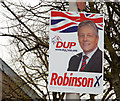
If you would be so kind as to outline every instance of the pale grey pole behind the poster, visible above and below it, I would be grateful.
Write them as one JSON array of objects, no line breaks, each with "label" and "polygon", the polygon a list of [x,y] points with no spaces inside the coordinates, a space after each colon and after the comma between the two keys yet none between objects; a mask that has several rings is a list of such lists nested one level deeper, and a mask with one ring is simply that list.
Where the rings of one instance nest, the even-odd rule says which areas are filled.
[{"label": "pale grey pole behind the poster, visible above and below it", "polygon": [[[69,11],[78,12],[76,0],[74,2],[69,2]],[[66,101],[70,100],[79,101],[79,93],[66,93]]]}]

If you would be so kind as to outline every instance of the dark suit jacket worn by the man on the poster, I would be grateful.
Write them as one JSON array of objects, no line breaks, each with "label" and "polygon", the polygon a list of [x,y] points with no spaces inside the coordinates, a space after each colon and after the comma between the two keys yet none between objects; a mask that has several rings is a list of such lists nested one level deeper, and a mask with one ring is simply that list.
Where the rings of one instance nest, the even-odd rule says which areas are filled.
[{"label": "dark suit jacket worn by the man on the poster", "polygon": [[[78,71],[82,53],[74,55],[69,61],[67,71]],[[102,73],[102,51],[98,48],[81,72]]]}]

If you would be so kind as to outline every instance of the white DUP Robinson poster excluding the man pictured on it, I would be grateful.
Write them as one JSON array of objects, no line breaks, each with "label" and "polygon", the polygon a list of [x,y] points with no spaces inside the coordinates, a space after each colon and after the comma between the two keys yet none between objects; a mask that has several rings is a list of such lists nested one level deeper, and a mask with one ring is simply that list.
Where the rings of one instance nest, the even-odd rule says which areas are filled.
[{"label": "white DUP Robinson poster excluding the man pictured on it", "polygon": [[[89,94],[103,93],[103,19],[102,14],[51,11],[49,34],[49,91]],[[98,47],[102,51],[102,71],[100,73],[79,72],[79,70],[68,71],[71,57],[83,52],[78,41],[78,24],[85,20],[95,22],[98,28]]]}]

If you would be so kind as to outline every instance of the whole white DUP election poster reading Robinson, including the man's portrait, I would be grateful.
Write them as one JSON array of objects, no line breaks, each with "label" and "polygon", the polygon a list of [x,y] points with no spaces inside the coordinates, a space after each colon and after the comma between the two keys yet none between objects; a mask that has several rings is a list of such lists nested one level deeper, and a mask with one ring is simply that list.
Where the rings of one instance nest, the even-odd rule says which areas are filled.
[{"label": "whole white DUP election poster reading Robinson, including the man's portrait", "polygon": [[49,91],[103,93],[103,19],[102,14],[51,11]]}]

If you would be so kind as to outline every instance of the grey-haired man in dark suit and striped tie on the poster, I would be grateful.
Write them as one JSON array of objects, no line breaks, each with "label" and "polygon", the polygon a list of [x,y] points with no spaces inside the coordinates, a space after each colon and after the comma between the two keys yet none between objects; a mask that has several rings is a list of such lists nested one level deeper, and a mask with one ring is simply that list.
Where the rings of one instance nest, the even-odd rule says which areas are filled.
[{"label": "grey-haired man in dark suit and striped tie on the poster", "polygon": [[98,28],[91,20],[78,25],[78,41],[83,52],[74,55],[67,71],[102,73],[102,51],[98,47]]}]

